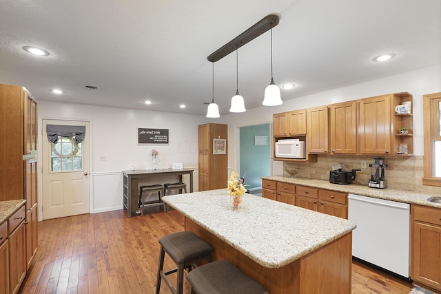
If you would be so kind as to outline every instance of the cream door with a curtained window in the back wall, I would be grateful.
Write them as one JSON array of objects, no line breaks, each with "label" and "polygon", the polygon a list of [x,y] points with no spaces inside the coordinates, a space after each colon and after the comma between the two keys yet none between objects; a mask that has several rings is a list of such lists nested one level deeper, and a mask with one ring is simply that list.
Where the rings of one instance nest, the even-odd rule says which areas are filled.
[{"label": "cream door with a curtained window in the back wall", "polygon": [[[85,126],[83,142],[59,136],[48,140],[47,125]],[[89,122],[43,120],[43,220],[90,213]]]}]

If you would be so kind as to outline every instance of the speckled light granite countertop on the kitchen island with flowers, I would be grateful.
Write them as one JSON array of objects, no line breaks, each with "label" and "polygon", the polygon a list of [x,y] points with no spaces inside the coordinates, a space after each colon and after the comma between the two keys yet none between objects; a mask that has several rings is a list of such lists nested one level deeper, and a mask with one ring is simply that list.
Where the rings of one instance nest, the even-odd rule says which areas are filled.
[{"label": "speckled light granite countertop on the kitchen island with flowers", "polygon": [[356,228],[349,220],[248,193],[235,209],[227,189],[163,201],[267,268],[285,266]]}]

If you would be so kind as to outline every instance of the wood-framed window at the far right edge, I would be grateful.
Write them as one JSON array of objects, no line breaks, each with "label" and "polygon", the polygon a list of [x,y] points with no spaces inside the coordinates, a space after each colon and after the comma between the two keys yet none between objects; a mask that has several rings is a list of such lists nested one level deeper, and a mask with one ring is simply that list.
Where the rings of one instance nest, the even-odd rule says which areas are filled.
[{"label": "wood-framed window at the far right edge", "polygon": [[441,92],[424,95],[423,185],[441,187]]}]

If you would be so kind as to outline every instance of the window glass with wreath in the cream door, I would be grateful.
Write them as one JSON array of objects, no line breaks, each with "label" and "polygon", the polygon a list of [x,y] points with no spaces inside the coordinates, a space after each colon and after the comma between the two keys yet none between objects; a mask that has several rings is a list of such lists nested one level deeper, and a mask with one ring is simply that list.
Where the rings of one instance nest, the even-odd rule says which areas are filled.
[{"label": "window glass with wreath in the cream door", "polygon": [[57,143],[51,143],[51,171],[81,171],[83,169],[82,143],[75,142],[75,136],[58,136]]}]

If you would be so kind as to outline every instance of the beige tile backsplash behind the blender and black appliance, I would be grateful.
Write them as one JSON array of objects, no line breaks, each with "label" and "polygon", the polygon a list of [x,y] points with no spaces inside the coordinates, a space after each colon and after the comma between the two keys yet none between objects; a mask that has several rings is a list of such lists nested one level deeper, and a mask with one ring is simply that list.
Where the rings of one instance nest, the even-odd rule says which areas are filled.
[{"label": "beige tile backsplash behind the blender and black appliance", "polygon": [[[283,170],[287,166],[299,167],[298,177],[314,178],[319,180],[329,180],[329,171],[336,163],[342,162],[347,165],[347,169],[361,169],[357,171],[356,180],[362,185],[367,185],[371,178],[371,168],[369,164],[373,163],[373,158],[380,156],[349,156],[349,155],[318,155],[317,162],[284,162]],[[422,176],[424,175],[424,156],[384,157],[384,163],[387,165],[384,174],[387,180],[387,187],[393,189],[402,189],[407,191],[418,191],[423,193],[441,193],[441,187],[432,187],[422,185]],[[367,168],[361,168],[361,162],[367,162]]]}]

